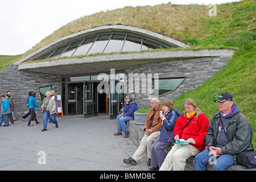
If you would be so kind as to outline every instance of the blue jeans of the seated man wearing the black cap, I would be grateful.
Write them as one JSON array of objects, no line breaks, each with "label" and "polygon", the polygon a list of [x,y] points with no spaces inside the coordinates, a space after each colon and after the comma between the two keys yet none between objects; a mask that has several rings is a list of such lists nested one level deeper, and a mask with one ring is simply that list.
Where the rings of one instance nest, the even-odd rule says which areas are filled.
[{"label": "blue jeans of the seated man wearing the black cap", "polygon": [[226,167],[234,164],[231,154],[222,154],[218,157],[209,153],[209,149],[205,149],[195,156],[196,171],[205,171],[205,165],[209,162],[213,165],[213,171],[225,171]]}]

